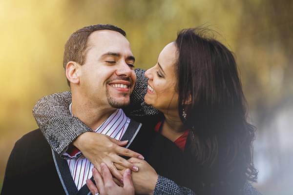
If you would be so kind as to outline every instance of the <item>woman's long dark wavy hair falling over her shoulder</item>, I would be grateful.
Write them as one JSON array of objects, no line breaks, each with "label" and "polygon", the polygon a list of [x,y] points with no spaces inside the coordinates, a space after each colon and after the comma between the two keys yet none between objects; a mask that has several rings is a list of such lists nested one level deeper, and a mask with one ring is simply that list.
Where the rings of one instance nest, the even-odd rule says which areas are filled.
[{"label": "woman's long dark wavy hair falling over her shoulder", "polygon": [[232,52],[209,38],[209,32],[206,28],[184,29],[175,41],[179,114],[182,116],[183,109],[187,113],[181,120],[191,129],[191,152],[197,162],[213,166],[225,154],[228,163],[245,163],[247,179],[256,181],[252,159],[255,127],[247,121],[237,65]]}]

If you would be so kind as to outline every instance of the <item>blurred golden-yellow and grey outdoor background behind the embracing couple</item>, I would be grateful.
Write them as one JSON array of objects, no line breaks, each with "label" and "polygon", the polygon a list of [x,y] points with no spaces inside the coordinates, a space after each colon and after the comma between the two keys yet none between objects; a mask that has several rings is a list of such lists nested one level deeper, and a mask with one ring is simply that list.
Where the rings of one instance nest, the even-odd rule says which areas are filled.
[{"label": "blurred golden-yellow and grey outdoor background behind the embracing couple", "polygon": [[257,127],[254,186],[265,195],[292,195],[292,11],[293,0],[0,0],[0,189],[15,141],[37,128],[35,102],[68,90],[62,57],[72,32],[118,25],[136,67],[147,69],[180,29],[206,24],[239,65]]}]

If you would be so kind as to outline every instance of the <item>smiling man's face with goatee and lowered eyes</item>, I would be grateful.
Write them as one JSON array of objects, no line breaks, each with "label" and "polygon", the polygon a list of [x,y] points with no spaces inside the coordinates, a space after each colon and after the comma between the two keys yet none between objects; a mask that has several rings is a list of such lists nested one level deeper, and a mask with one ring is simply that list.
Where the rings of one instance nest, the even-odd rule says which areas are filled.
[{"label": "smiling man's face with goatee and lowered eyes", "polygon": [[123,35],[110,30],[91,33],[81,66],[81,93],[94,105],[128,105],[136,81],[133,64],[130,44]]}]

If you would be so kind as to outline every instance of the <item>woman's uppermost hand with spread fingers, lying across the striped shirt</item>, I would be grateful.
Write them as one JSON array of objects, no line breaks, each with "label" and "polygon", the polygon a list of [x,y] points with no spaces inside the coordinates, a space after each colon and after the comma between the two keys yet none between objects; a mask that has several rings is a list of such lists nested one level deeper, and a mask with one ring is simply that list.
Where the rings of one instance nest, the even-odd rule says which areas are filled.
[{"label": "woman's uppermost hand with spread fingers, lying across the striped shirt", "polygon": [[129,168],[132,171],[138,171],[138,167],[125,158],[118,156],[129,156],[144,159],[144,157],[127,148],[121,147],[127,144],[127,141],[118,141],[103,134],[86,132],[73,142],[86,158],[100,171],[100,164],[104,162],[109,168],[111,174],[118,180],[122,180],[122,174],[116,169],[114,163]]}]

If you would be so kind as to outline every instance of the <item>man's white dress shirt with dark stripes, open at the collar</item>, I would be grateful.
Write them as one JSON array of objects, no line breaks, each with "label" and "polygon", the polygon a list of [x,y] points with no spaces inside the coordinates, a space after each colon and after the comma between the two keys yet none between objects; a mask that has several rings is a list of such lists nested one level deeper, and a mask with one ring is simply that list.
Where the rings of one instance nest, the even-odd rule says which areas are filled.
[{"label": "man's white dress shirt with dark stripes, open at the collar", "polygon": [[[69,110],[72,115],[71,104],[69,106]],[[124,135],[129,122],[130,118],[126,117],[123,110],[117,109],[94,132],[120,140],[121,137]],[[77,156],[80,153],[81,152],[78,151],[78,153],[76,153],[74,156]],[[72,155],[69,155],[67,153],[64,153],[63,155],[72,157]],[[80,190],[84,186],[86,179],[92,177],[91,170],[94,165],[84,156],[80,156],[79,158],[67,159],[67,163],[74,183],[77,189]]]}]

